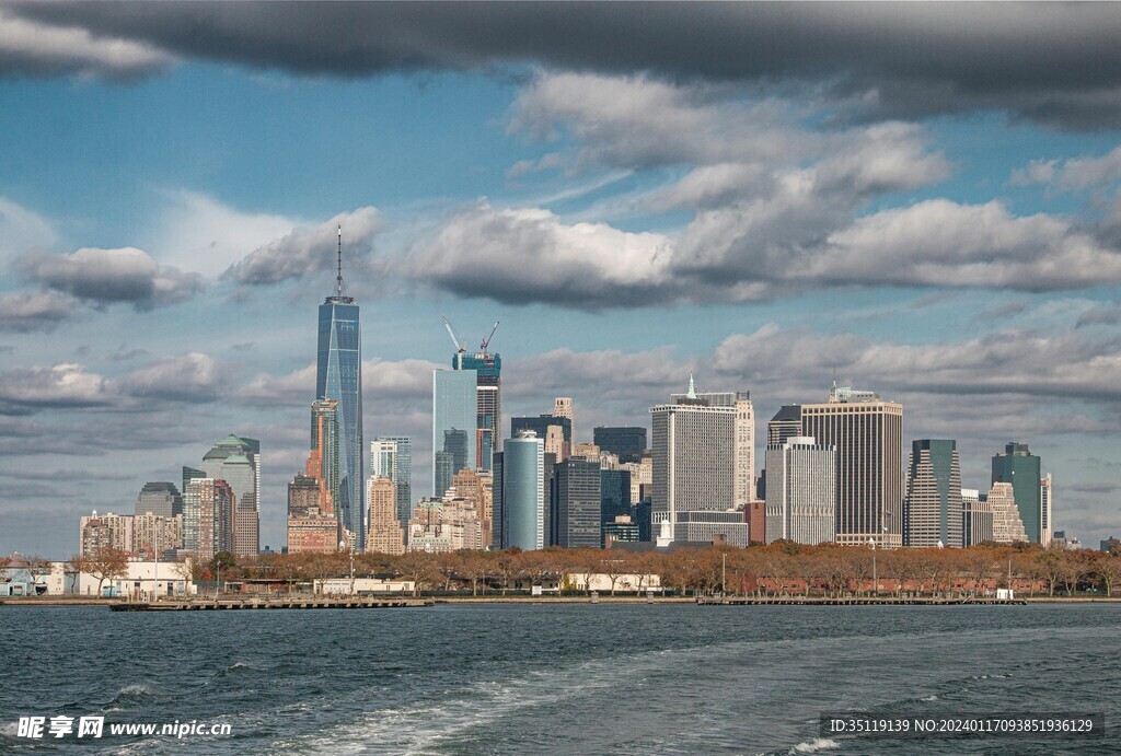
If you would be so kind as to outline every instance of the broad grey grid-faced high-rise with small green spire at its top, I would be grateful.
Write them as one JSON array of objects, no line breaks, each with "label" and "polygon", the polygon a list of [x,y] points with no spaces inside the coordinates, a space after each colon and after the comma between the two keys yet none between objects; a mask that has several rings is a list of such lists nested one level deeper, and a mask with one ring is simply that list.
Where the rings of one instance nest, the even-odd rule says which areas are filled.
[{"label": "broad grey grid-faced high-rise with small green spire at its top", "polygon": [[650,409],[655,531],[665,521],[676,523],[682,512],[735,508],[736,395],[700,394],[691,377],[687,393]]}]

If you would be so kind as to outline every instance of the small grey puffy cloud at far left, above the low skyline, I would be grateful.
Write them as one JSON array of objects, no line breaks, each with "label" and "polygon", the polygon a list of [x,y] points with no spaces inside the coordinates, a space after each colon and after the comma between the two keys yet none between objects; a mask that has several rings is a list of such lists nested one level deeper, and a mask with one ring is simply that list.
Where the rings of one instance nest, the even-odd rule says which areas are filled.
[{"label": "small grey puffy cloud at far left, above the low skyline", "polygon": [[71,254],[29,255],[25,276],[45,287],[98,305],[129,302],[148,310],[189,299],[203,289],[202,277],[159,265],[136,248],[85,248]]}]

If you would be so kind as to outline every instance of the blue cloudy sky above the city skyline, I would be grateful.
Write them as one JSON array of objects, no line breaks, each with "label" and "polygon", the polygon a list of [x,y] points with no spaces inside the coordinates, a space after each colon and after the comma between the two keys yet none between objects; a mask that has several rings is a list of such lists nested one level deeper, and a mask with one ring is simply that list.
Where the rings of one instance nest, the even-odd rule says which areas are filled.
[{"label": "blue cloudy sky above the city skyline", "polygon": [[[285,540],[316,308],[430,492],[445,315],[504,429],[840,384],[1026,442],[1121,534],[1115,3],[0,1],[0,553],[64,559],[230,432]],[[758,451],[762,451],[762,441]],[[367,449],[368,454],[368,449]],[[758,473],[758,470],[757,470]]]}]

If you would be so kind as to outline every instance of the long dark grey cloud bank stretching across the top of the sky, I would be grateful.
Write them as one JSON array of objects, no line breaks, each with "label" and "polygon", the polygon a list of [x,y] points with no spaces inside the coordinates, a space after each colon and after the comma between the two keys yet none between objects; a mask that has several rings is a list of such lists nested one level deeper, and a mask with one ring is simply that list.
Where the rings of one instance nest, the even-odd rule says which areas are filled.
[{"label": "long dark grey cloud bank stretching across the top of the sky", "polygon": [[[528,63],[806,83],[858,103],[856,116],[1002,109],[1064,128],[1121,122],[1113,3],[25,1],[7,13],[9,24],[18,17],[130,45],[141,57],[130,72],[159,71],[170,56],[348,77]],[[0,71],[121,69],[96,55],[74,64],[67,53],[9,44]]]}]

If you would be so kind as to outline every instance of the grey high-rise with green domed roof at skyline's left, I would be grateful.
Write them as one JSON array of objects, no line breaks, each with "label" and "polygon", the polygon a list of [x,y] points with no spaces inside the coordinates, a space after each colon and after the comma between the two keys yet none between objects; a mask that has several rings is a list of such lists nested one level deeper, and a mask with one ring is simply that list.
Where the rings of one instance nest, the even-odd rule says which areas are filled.
[{"label": "grey high-rise with green domed roof at skyline's left", "polygon": [[203,456],[200,468],[207,477],[225,480],[234,497],[234,542],[239,557],[256,557],[260,550],[261,442],[256,438],[226,436]]}]

